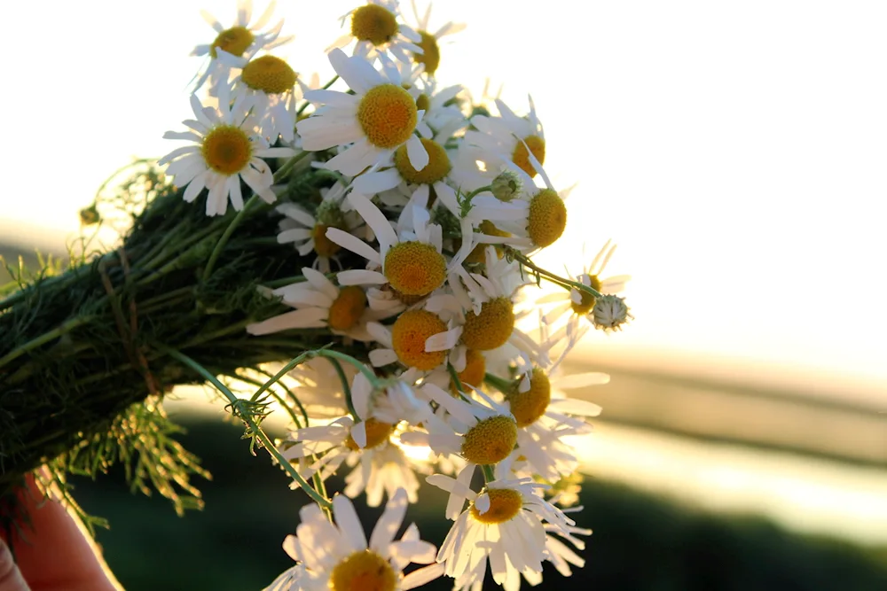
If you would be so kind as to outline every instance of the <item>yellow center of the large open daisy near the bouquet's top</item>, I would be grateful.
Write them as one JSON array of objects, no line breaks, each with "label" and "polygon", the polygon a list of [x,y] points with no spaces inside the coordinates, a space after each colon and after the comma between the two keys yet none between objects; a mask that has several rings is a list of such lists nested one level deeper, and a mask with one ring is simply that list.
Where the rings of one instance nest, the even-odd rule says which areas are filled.
[{"label": "yellow center of the large open daisy near the bouquet's top", "polygon": [[416,101],[396,84],[369,89],[357,105],[357,122],[378,148],[395,148],[410,139],[418,117]]}]

